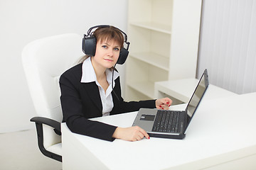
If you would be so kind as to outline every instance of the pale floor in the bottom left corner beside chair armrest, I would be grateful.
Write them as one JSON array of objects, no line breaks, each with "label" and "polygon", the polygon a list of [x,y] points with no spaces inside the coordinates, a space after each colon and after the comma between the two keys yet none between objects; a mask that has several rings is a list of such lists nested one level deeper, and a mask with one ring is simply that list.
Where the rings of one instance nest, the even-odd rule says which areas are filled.
[{"label": "pale floor in the bottom left corner beside chair armrest", "polygon": [[41,154],[36,130],[0,134],[0,169],[60,170],[61,162]]}]

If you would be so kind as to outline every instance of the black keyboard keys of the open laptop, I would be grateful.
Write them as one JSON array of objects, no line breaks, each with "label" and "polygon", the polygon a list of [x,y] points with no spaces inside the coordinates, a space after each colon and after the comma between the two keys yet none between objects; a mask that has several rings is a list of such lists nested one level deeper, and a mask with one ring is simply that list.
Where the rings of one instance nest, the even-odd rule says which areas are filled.
[{"label": "black keyboard keys of the open laptop", "polygon": [[178,132],[179,111],[157,111],[153,132]]}]

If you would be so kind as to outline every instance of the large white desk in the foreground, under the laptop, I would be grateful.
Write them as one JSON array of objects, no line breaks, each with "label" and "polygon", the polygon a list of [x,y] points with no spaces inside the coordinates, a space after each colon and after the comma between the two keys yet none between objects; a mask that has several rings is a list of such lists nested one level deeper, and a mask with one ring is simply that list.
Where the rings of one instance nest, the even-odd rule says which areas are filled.
[{"label": "large white desk in the foreground, under the laptop", "polygon": [[[207,93],[207,92],[206,92]],[[172,106],[172,108],[184,107]],[[129,127],[136,112],[95,118]],[[256,169],[256,93],[203,100],[184,140],[107,142],[62,124],[63,170]]]}]

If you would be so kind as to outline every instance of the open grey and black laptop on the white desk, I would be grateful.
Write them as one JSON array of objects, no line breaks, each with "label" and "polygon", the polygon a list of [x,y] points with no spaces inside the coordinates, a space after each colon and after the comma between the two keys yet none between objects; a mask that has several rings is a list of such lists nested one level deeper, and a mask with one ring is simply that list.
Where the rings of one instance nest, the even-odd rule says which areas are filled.
[{"label": "open grey and black laptop on the white desk", "polygon": [[150,137],[182,140],[208,85],[208,72],[205,69],[185,111],[140,108],[132,126],[137,125],[144,129]]}]

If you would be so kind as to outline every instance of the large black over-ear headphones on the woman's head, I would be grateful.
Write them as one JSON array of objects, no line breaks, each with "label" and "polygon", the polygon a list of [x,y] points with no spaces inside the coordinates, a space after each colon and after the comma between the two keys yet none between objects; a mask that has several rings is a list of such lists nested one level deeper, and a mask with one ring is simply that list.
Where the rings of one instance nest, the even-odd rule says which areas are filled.
[{"label": "large black over-ear headphones on the woman's head", "polygon": [[[82,38],[82,51],[85,53],[85,55],[91,55],[95,56],[96,51],[96,38],[94,35],[92,35],[92,29],[95,28],[105,28],[110,27],[108,25],[100,25],[100,26],[93,26],[87,31],[87,35],[84,35],[84,38]],[[121,48],[119,58],[117,60],[117,64],[124,64],[125,60],[127,60],[128,54],[129,54],[129,42],[127,42],[127,35],[122,30],[117,28],[121,33],[124,34],[124,42],[127,44],[127,48],[124,47]]]}]

